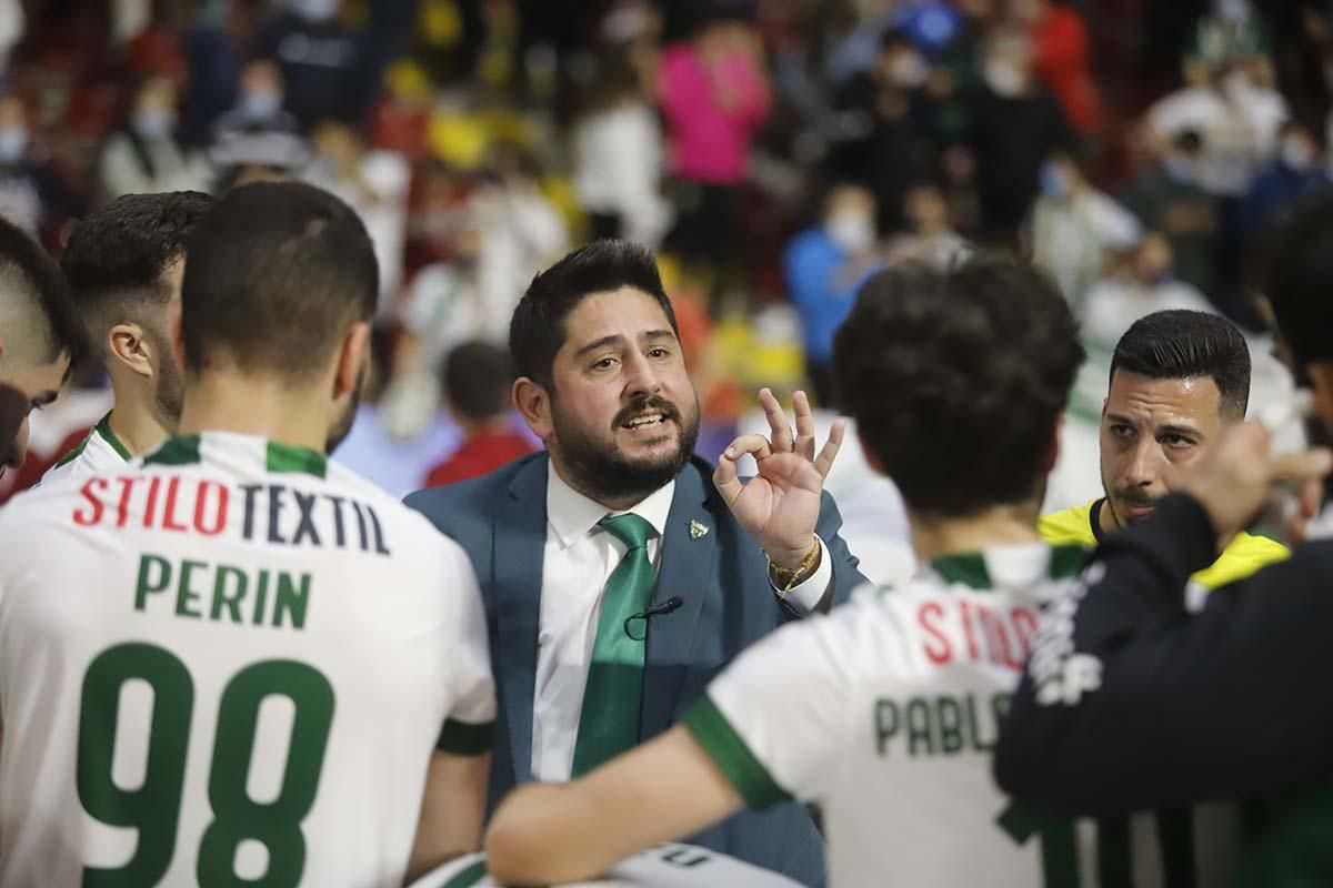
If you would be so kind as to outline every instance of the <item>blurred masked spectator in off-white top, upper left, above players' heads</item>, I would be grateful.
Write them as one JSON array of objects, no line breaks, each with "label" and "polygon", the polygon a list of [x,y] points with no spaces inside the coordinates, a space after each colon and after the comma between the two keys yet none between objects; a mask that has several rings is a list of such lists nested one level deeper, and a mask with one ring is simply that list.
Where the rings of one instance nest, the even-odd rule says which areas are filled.
[{"label": "blurred masked spectator in off-white top, upper left, above players' heads", "polygon": [[208,162],[176,141],[176,84],[148,77],[125,125],[103,148],[103,196],[111,201],[121,194],[203,192],[211,178]]}]

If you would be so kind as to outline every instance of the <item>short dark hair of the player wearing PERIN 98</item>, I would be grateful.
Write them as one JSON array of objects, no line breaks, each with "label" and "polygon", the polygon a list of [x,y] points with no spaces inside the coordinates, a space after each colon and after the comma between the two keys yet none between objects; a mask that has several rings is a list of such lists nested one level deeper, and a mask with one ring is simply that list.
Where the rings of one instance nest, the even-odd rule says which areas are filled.
[{"label": "short dark hair of the player wearing PERIN 98", "polygon": [[356,213],[301,182],[255,182],[219,200],[185,240],[185,367],[304,378],[347,328],[375,316],[380,274]]}]

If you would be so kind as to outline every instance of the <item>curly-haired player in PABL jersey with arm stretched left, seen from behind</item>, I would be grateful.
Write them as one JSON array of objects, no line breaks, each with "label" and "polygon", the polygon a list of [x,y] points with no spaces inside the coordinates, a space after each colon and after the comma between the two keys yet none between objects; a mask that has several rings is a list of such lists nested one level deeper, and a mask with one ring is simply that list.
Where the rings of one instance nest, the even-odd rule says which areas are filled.
[{"label": "curly-haired player in PABL jersey with arm stretched left, seen from behind", "polygon": [[834,888],[1041,884],[1042,820],[1009,807],[989,750],[1042,603],[1084,563],[1036,530],[1082,357],[1064,298],[1013,260],[870,278],[834,378],[925,572],[758,642],[682,724],[585,777],[515,791],[492,873],[587,877],[796,796],[824,812]]}]

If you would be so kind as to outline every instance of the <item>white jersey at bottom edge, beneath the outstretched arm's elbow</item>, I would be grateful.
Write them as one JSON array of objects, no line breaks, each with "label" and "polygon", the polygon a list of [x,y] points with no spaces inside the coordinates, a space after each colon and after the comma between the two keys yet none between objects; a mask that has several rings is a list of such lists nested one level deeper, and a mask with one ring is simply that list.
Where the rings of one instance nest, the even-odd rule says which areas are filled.
[{"label": "white jersey at bottom edge, beneath the outstretched arm's elbow", "polygon": [[[501,888],[487,875],[485,855],[459,857],[412,883],[411,888]],[[560,888],[800,888],[768,869],[694,845],[665,844],[635,855],[601,879]]]}]

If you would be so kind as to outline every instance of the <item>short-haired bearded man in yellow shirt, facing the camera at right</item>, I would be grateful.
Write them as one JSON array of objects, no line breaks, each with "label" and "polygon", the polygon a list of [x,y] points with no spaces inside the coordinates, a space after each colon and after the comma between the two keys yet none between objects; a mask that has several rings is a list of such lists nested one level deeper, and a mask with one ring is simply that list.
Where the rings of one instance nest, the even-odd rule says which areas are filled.
[{"label": "short-haired bearded man in yellow shirt, facing the camera at right", "polygon": [[[1226,318],[1173,309],[1136,321],[1116,343],[1101,410],[1105,495],[1042,517],[1042,538],[1092,549],[1150,515],[1222,433],[1245,419],[1249,389],[1249,345]],[[1272,539],[1237,534],[1194,582],[1214,588],[1288,554]]]}]

